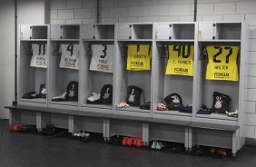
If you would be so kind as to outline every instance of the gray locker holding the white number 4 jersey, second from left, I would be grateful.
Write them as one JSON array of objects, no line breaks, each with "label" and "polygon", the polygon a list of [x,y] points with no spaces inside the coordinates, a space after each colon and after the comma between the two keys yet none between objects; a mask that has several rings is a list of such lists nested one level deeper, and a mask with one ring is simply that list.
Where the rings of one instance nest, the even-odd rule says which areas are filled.
[{"label": "gray locker holding the white number 4 jersey, second from left", "polygon": [[[80,50],[80,25],[51,25],[49,47],[49,107],[78,110],[78,101],[54,102],[53,97],[66,92],[67,84],[71,81],[79,82],[79,70],[60,68],[61,54],[57,53],[58,44],[78,44]],[[79,57],[81,54],[79,54]],[[79,85],[79,84],[78,84]],[[78,93],[79,94],[79,93]]]}]

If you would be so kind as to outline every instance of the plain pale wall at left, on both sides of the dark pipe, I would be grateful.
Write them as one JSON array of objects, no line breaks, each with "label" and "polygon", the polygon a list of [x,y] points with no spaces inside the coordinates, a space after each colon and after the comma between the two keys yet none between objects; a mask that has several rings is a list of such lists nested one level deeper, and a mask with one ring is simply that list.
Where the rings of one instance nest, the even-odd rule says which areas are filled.
[{"label": "plain pale wall at left, on both sides of the dark pipe", "polygon": [[[18,0],[18,24],[42,25],[44,0]],[[0,118],[8,119],[6,105],[15,100],[15,0],[0,0]]]}]

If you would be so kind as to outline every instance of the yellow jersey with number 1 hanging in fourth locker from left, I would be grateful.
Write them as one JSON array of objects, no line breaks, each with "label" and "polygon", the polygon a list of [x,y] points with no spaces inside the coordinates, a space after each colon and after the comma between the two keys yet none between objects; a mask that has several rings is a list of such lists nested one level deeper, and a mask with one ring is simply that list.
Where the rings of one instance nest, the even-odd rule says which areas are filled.
[{"label": "yellow jersey with number 1 hanging in fourth locker from left", "polygon": [[151,45],[128,44],[127,70],[151,70]]}]

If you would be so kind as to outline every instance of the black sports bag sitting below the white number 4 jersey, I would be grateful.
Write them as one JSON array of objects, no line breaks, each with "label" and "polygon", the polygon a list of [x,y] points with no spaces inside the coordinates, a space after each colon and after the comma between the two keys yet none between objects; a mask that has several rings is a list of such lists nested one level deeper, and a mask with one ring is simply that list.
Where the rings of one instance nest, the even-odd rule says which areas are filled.
[{"label": "black sports bag sitting below the white number 4 jersey", "polygon": [[65,97],[68,101],[78,101],[78,82],[71,81],[67,84]]}]

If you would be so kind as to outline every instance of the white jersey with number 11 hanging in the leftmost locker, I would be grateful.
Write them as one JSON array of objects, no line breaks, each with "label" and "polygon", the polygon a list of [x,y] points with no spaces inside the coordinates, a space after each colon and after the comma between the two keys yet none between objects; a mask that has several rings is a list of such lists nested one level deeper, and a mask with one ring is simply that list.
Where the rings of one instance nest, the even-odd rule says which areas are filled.
[{"label": "white jersey with number 11 hanging in the leftmost locker", "polygon": [[32,44],[30,66],[47,68],[47,44]]}]

